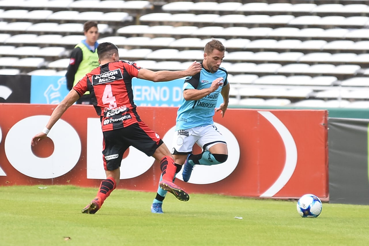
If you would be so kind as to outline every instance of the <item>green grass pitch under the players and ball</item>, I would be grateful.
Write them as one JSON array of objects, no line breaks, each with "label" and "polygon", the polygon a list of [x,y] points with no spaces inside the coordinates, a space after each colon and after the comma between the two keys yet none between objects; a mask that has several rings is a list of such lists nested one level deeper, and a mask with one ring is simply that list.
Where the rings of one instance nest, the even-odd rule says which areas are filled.
[{"label": "green grass pitch under the players and ball", "polygon": [[180,202],[168,193],[165,214],[152,214],[155,193],[117,189],[96,214],[82,214],[96,193],[0,186],[0,245],[369,244],[368,206],[323,203],[318,218],[301,218],[296,201],[190,194]]}]

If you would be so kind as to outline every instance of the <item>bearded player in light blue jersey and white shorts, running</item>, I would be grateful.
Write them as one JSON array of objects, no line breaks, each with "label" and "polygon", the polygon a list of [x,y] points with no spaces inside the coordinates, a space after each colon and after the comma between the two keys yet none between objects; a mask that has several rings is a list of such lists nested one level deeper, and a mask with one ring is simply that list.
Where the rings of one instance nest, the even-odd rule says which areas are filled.
[{"label": "bearded player in light blue jersey and white shorts, running", "polygon": [[[189,181],[195,165],[216,165],[224,163],[228,158],[225,138],[213,121],[215,112],[220,111],[224,117],[229,101],[228,73],[220,67],[224,53],[225,47],[219,40],[208,42],[204,48],[201,71],[187,77],[183,84],[184,99],[177,111],[172,155],[176,174],[183,165],[182,177],[185,182]],[[220,95],[223,103],[217,108]],[[203,149],[201,154],[192,154],[195,143]],[[162,204],[166,193],[158,188],[151,206],[152,213],[163,213]]]}]

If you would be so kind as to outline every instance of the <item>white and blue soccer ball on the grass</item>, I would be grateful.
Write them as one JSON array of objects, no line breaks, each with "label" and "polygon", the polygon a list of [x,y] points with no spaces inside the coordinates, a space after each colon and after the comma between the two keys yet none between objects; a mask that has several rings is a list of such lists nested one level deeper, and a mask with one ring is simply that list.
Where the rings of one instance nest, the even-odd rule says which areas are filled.
[{"label": "white and blue soccer ball on the grass", "polygon": [[301,217],[318,217],[322,211],[322,202],[313,194],[301,196],[297,202],[297,212]]}]

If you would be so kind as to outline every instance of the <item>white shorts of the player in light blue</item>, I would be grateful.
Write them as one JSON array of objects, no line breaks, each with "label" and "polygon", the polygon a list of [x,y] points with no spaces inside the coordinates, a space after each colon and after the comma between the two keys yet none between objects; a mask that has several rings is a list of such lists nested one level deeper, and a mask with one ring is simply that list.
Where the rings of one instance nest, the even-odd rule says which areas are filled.
[{"label": "white shorts of the player in light blue", "polygon": [[203,150],[209,150],[217,143],[227,144],[215,125],[197,126],[175,132],[172,154],[190,154],[195,143]]}]

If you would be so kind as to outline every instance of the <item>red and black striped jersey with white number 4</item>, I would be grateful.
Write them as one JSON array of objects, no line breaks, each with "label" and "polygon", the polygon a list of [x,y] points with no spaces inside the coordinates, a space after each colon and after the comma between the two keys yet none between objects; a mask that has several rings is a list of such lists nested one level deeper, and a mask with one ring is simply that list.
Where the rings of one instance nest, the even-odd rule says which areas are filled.
[{"label": "red and black striped jersey with white number 4", "polygon": [[107,63],[93,69],[73,87],[80,96],[90,92],[103,132],[141,121],[132,90],[132,78],[137,77],[140,68],[133,61]]}]

